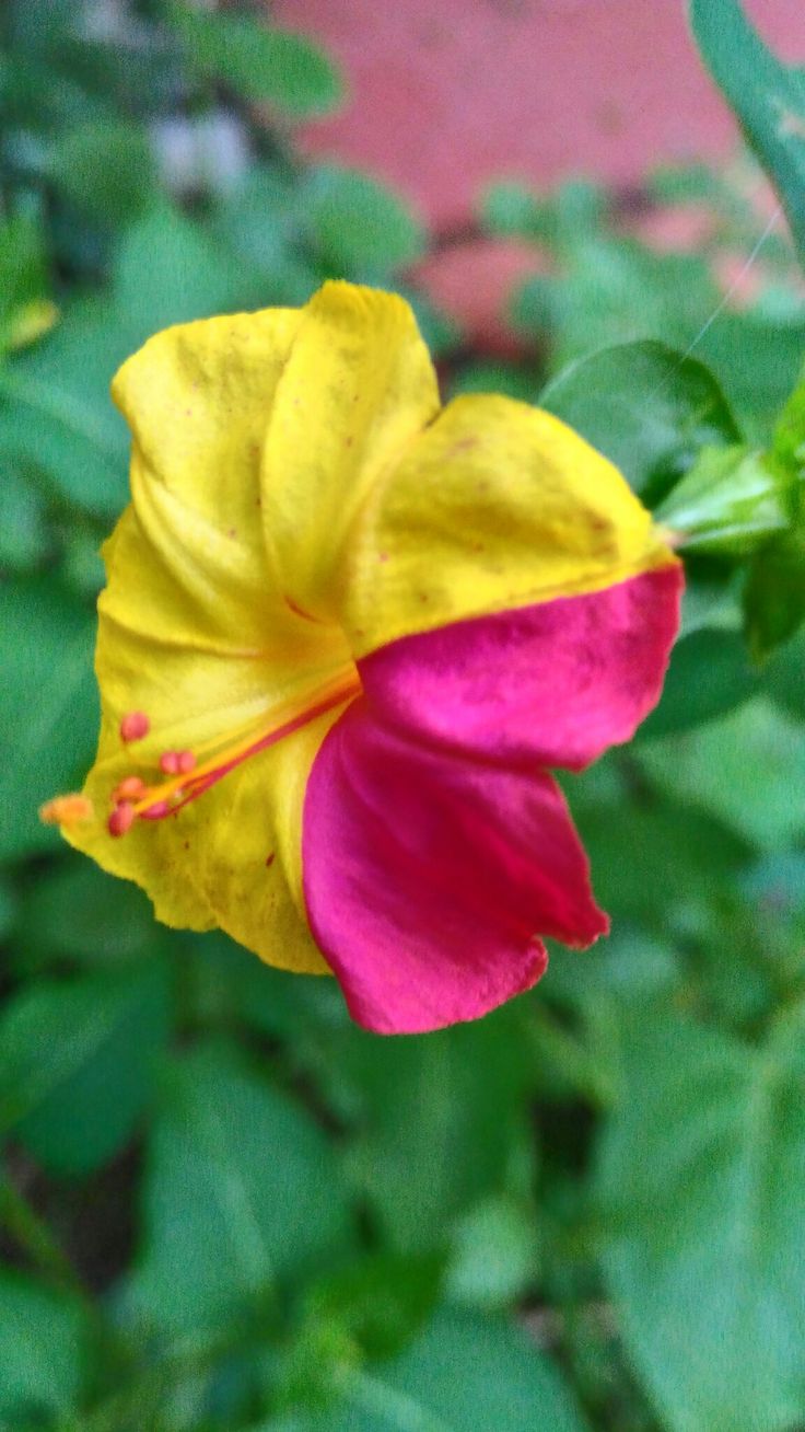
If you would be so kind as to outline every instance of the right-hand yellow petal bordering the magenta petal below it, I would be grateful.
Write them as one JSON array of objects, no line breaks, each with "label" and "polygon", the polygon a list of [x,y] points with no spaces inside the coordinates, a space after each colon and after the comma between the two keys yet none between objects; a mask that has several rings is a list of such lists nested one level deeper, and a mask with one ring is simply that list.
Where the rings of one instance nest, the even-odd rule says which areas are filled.
[{"label": "right-hand yellow petal bordering the magenta petal below it", "polygon": [[472,395],[449,404],[376,485],[352,560],[342,621],[363,656],[675,558],[583,438],[523,402]]}]

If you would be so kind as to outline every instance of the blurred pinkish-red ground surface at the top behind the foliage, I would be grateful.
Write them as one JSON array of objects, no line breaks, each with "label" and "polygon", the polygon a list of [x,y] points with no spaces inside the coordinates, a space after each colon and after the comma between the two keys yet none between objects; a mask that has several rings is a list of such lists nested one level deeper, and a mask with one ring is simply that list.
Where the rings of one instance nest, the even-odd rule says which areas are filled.
[{"label": "blurred pinkish-red ground surface at the top behind the foliage", "polygon": [[[745,6],[802,63],[805,0]],[[303,149],[390,180],[442,235],[466,226],[492,178],[631,185],[736,145],[683,0],[273,0],[272,14],[320,39],[349,82],[343,110],[307,126]],[[459,242],[430,262],[428,286],[496,342],[493,315],[529,262],[516,246]]]}]

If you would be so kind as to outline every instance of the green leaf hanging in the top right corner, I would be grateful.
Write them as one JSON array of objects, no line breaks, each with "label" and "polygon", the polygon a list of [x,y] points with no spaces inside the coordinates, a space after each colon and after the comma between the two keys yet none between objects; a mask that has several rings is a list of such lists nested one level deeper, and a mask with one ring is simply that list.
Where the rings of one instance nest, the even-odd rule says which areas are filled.
[{"label": "green leaf hanging in the top right corner", "polygon": [[805,77],[782,64],[738,0],[691,0],[705,63],[776,185],[805,263]]}]

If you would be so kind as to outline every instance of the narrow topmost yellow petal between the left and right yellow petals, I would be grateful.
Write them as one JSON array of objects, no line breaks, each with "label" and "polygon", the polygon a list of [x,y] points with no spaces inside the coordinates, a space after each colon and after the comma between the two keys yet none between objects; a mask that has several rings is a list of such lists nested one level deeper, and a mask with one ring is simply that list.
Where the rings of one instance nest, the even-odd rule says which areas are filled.
[{"label": "narrow topmost yellow petal between the left and right yellow petals", "polygon": [[436,375],[402,298],[326,284],[303,311],[263,463],[263,520],[283,590],[335,619],[355,518],[439,408]]}]

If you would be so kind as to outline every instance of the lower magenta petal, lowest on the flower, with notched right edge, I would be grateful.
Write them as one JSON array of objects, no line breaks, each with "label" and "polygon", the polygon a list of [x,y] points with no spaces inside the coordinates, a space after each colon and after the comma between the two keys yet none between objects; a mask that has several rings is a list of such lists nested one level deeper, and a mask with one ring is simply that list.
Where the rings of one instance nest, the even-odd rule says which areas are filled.
[{"label": "lower magenta petal, lowest on the flower, with notched right edge", "polygon": [[550,776],[416,746],[366,699],[305,798],[305,899],[353,1018],[382,1034],[473,1020],[545,971],[538,935],[606,929]]}]

